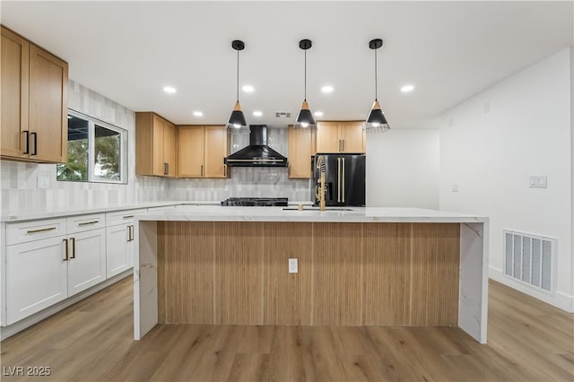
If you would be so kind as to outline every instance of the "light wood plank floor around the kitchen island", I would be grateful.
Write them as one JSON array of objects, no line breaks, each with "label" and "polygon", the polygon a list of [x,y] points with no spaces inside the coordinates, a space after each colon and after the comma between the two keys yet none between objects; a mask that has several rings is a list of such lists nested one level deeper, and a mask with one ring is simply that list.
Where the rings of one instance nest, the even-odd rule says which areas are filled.
[{"label": "light wood plank floor around the kitchen island", "polygon": [[[1,343],[2,380],[573,381],[574,318],[490,282],[488,344],[456,327],[156,326],[127,278]],[[9,377],[16,366],[49,377]]]}]

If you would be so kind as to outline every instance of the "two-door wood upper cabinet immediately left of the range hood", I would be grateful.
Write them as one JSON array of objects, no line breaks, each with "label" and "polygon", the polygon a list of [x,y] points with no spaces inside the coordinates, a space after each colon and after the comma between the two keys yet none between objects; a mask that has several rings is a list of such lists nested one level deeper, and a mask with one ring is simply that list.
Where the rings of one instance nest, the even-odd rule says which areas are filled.
[{"label": "two-door wood upper cabinet immediately left of the range hood", "polygon": [[227,178],[225,126],[178,126],[178,178]]}]

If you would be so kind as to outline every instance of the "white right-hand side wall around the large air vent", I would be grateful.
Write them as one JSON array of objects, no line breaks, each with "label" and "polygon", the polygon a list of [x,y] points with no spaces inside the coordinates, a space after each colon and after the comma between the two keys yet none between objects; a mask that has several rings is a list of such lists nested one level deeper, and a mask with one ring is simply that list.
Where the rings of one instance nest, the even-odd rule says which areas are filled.
[{"label": "white right-hand side wall around the large air vent", "polygon": [[[492,278],[574,311],[570,69],[566,48],[439,117],[439,206],[490,216]],[[553,295],[503,276],[503,229],[558,239]]]}]

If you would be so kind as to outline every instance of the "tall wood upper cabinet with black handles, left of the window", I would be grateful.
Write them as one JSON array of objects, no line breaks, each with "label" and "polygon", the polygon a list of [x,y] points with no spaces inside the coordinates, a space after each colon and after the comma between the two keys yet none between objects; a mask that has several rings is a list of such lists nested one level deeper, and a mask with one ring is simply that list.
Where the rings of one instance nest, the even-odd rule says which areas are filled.
[{"label": "tall wood upper cabinet with black handles, left of the window", "polygon": [[68,65],[2,27],[2,159],[65,162]]}]

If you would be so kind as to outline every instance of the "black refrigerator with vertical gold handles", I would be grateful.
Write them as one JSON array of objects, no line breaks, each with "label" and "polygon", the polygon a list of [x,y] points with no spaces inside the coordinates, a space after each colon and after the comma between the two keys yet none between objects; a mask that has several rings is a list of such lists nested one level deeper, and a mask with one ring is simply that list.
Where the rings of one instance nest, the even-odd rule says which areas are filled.
[{"label": "black refrigerator with vertical gold handles", "polygon": [[360,154],[320,154],[313,156],[311,166],[311,201],[318,205],[317,190],[321,172],[319,156],[325,158],[325,204],[365,205],[365,156]]}]

